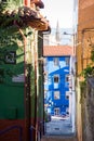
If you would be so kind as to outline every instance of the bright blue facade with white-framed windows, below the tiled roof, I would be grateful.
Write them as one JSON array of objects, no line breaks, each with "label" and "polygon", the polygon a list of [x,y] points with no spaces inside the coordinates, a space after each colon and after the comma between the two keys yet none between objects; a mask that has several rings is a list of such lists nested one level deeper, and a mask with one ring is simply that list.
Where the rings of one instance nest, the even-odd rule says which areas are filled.
[{"label": "bright blue facade with white-framed windows, below the tiled roof", "polygon": [[68,115],[70,56],[44,59],[44,110],[52,116]]}]

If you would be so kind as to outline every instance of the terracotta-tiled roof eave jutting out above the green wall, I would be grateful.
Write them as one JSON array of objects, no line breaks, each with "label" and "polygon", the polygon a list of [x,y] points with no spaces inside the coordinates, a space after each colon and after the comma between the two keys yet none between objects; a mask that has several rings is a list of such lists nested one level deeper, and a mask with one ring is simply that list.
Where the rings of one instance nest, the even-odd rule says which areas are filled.
[{"label": "terracotta-tiled roof eave jutting out above the green wall", "polygon": [[[37,30],[44,31],[48,30],[50,26],[49,22],[39,12],[28,7],[22,7],[16,11],[5,11],[4,15],[6,16],[6,18],[12,18],[11,24],[16,21],[16,23],[21,27],[27,25]],[[18,15],[18,21],[15,18],[16,15]]]}]

